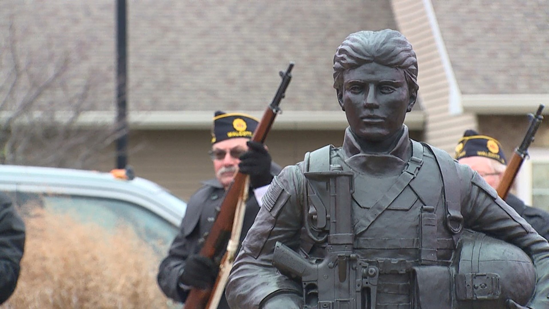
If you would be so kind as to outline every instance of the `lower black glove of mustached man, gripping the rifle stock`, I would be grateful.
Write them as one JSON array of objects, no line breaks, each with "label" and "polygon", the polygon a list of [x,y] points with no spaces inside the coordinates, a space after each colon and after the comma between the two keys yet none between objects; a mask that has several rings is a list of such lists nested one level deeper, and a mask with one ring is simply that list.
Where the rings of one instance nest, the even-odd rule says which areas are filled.
[{"label": "lower black glove of mustached man, gripping the rifle stock", "polygon": [[179,282],[204,290],[214,285],[217,273],[219,267],[210,258],[191,255],[187,258]]}]

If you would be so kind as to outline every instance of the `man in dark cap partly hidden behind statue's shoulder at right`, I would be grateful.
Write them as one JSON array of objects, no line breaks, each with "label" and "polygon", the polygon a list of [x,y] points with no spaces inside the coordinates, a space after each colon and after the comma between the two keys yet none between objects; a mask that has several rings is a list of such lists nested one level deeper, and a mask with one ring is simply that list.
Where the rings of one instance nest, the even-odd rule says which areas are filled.
[{"label": "man in dark cap partly hidden behind statue's shoulder at right", "polygon": [[[466,130],[457,142],[454,156],[461,164],[467,164],[479,173],[486,183],[497,190],[505,169],[507,160],[499,141],[491,136],[480,135],[477,131]],[[509,193],[505,202],[545,239],[549,239],[549,212],[540,208],[527,206],[516,195]]]}]

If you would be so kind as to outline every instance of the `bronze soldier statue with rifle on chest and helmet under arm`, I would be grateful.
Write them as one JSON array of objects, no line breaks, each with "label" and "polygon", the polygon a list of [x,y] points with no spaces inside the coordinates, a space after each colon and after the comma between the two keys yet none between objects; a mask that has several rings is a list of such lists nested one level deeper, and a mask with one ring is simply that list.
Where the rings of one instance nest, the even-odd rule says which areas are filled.
[{"label": "bronze soldier statue with rifle on chest and helmet under arm", "polygon": [[549,308],[547,240],[478,173],[408,137],[418,69],[406,38],[351,34],[333,68],[343,146],[273,179],[229,277],[229,305]]}]

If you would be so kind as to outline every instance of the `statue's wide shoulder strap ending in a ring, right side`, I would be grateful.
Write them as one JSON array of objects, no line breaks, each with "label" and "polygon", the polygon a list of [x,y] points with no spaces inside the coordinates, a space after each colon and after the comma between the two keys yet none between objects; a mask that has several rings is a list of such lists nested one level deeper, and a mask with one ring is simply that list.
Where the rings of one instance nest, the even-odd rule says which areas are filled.
[{"label": "statue's wide shoulder strap ending in a ring, right side", "polygon": [[461,215],[461,183],[456,162],[444,150],[427,143],[422,142],[422,144],[434,154],[436,163],[439,165],[446,201],[446,226],[452,234],[458,236],[463,228],[463,216]]}]

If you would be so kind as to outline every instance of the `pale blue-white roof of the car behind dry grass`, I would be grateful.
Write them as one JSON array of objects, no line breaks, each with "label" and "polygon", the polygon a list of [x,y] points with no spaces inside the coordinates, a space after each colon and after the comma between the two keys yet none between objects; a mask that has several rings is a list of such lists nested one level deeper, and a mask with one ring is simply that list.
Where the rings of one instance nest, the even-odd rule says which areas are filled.
[{"label": "pale blue-white roof of the car behind dry grass", "polygon": [[180,198],[144,178],[68,168],[0,165],[0,190],[116,198],[137,203],[179,226],[187,208]]}]

